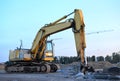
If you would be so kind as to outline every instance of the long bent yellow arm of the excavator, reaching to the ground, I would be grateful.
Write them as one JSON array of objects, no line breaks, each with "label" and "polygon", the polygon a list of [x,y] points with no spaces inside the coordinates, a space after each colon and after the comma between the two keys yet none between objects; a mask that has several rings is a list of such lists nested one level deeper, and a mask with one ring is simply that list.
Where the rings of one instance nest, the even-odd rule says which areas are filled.
[{"label": "long bent yellow arm of the excavator, reaching to the ground", "polygon": [[[61,20],[65,19],[67,16],[73,13],[74,19],[70,19],[65,22],[60,22]],[[86,47],[84,27],[85,25],[82,11],[78,9],[75,9],[74,12],[58,19],[57,21],[42,27],[38,31],[32,44],[31,52],[33,54],[33,59],[36,59],[36,57],[42,58],[46,45],[45,41],[48,36],[72,28],[75,37],[77,55],[81,58],[81,62],[84,64],[85,63],[84,49]]]}]

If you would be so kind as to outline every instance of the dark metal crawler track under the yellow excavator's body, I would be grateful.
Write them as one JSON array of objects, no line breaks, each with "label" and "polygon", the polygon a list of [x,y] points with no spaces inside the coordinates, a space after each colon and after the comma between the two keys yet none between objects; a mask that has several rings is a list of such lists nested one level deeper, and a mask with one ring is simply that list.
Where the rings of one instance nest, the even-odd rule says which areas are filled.
[{"label": "dark metal crawler track under the yellow excavator's body", "polygon": [[32,73],[32,72],[39,72],[39,73],[51,73],[56,72],[60,66],[54,63],[32,63],[32,64],[22,64],[15,63],[11,65],[5,66],[5,71],[8,73]]}]

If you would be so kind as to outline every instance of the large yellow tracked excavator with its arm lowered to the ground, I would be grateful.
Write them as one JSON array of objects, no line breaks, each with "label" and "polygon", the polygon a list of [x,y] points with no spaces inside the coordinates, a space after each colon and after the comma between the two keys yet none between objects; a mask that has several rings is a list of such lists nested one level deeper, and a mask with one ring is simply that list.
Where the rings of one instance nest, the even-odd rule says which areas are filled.
[{"label": "large yellow tracked excavator with its arm lowered to the ground", "polygon": [[[74,14],[74,18],[66,19],[72,14]],[[10,50],[9,61],[6,62],[5,66],[6,72],[56,72],[60,66],[53,62],[53,43],[47,38],[70,28],[74,33],[77,56],[81,59],[81,65],[85,66],[85,24],[82,11],[75,9],[72,13],[41,27],[31,49],[20,47]]]}]

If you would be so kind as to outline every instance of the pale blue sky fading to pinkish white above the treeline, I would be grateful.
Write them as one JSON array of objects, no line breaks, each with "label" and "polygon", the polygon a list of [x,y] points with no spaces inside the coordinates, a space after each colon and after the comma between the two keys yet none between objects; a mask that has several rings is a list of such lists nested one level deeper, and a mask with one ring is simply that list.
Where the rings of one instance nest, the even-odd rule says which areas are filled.
[{"label": "pale blue sky fading to pinkish white above the treeline", "polygon": [[[86,34],[86,56],[120,51],[120,0],[0,0],[0,62],[9,60],[9,50],[19,47],[20,40],[30,49],[41,27],[74,9],[82,10],[86,33],[113,30]],[[54,39],[55,56],[77,56],[71,29],[49,39]]]}]

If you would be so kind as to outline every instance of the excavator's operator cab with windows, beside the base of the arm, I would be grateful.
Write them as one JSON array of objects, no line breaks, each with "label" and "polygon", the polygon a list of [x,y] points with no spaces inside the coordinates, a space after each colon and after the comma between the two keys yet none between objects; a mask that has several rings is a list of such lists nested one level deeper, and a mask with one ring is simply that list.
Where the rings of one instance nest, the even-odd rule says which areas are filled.
[{"label": "excavator's operator cab with windows, beside the base of the arm", "polygon": [[44,58],[45,61],[53,61],[54,60],[54,52],[53,52],[53,42],[52,40],[46,41],[46,49],[44,52]]}]

